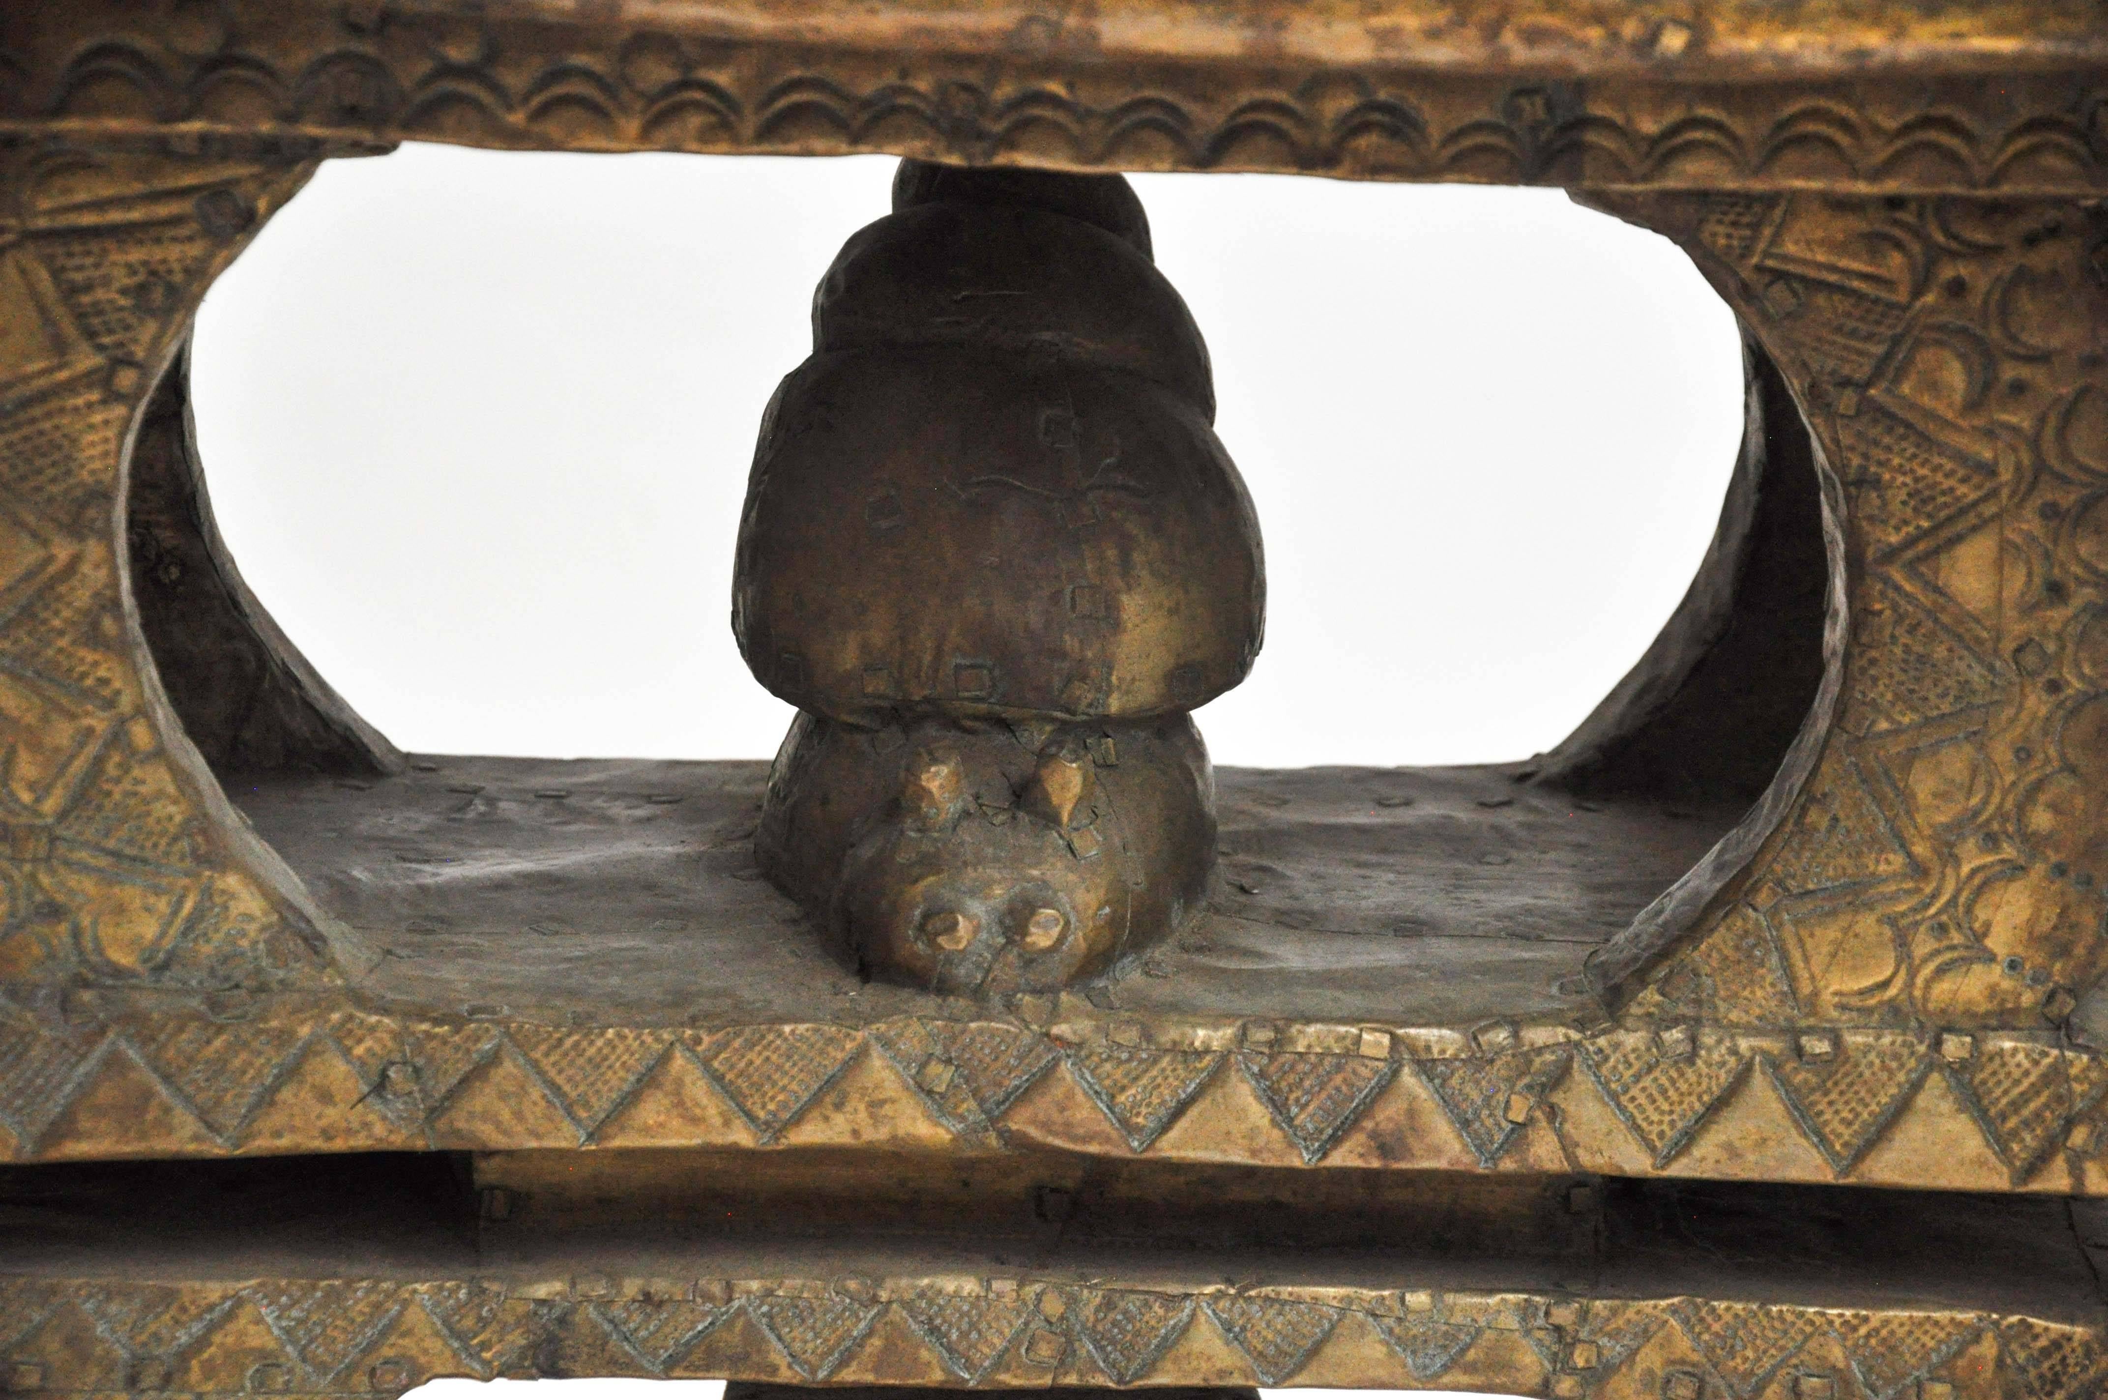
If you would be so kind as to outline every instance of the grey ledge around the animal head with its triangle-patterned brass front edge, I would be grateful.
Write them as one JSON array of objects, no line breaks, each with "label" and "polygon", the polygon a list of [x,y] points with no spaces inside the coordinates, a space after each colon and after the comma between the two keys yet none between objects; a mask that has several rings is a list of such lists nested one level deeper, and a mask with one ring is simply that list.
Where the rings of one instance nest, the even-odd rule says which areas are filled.
[{"label": "grey ledge around the animal head with its triangle-patterned brass front edge", "polygon": [[1166,976],[976,1004],[860,985],[797,928],[753,867],[761,780],[419,757],[236,784],[358,1002],[17,989],[11,1151],[1008,1143],[2108,1191],[2083,1048],[1617,1025],[1562,991],[1733,812],[1587,810],[1497,770],[1225,770],[1229,883]]}]

